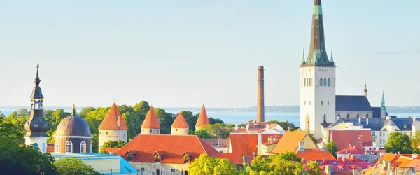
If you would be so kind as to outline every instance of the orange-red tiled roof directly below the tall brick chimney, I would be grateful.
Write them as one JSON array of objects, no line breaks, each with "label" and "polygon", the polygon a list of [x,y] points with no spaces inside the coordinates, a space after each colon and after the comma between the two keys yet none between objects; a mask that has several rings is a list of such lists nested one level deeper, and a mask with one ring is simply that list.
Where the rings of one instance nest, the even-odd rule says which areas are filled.
[{"label": "orange-red tiled roof directly below the tall brick chimney", "polygon": [[[268,141],[271,136],[281,136],[280,134],[261,134],[262,142]],[[258,134],[229,134],[229,150],[230,153],[238,153],[240,155],[253,155],[258,153]]]}]

